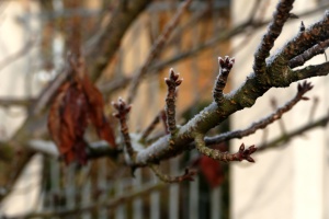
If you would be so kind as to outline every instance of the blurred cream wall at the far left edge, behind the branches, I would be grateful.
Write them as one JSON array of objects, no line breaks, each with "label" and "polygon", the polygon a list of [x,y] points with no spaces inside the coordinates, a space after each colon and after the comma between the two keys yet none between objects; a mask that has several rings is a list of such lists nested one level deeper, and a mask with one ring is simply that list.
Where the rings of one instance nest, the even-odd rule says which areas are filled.
[{"label": "blurred cream wall at the far left edge, behind the branches", "polygon": [[[29,41],[36,42],[35,33],[38,32],[39,23],[31,18],[20,20],[22,15],[33,14],[38,11],[36,1],[3,1],[1,2],[0,16],[0,99],[24,99],[38,91],[36,81],[33,80],[37,62],[37,47],[32,47],[24,56],[14,61],[9,61],[16,56]],[[9,138],[25,118],[23,108],[0,108],[0,139]],[[22,214],[37,207],[38,188],[41,185],[39,174],[41,157],[32,159],[30,168],[21,175],[21,180],[13,188],[0,208],[1,214]],[[8,176],[9,177],[9,176]]]}]

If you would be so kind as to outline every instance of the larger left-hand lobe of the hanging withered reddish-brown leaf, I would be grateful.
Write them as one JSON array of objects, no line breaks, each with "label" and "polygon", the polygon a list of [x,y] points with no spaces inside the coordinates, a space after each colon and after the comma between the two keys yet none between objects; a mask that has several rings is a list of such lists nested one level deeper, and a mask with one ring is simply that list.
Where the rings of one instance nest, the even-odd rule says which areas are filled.
[{"label": "larger left-hand lobe of the hanging withered reddish-brown leaf", "polygon": [[67,164],[75,159],[81,164],[87,162],[86,143],[82,143],[87,122],[83,92],[77,83],[65,83],[50,107],[48,129]]}]

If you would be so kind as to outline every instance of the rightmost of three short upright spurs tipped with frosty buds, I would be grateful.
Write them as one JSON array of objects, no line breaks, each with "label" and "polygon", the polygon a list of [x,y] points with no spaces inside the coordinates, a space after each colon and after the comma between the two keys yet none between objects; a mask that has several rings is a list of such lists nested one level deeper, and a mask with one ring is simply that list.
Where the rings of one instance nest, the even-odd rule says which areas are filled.
[{"label": "rightmost of three short upright spurs tipped with frosty buds", "polygon": [[229,58],[228,56],[225,56],[225,58],[223,59],[222,57],[218,57],[218,64],[219,73],[216,79],[215,88],[213,91],[213,97],[217,104],[220,104],[223,102],[223,90],[227,83],[229,71],[235,64],[235,58]]}]

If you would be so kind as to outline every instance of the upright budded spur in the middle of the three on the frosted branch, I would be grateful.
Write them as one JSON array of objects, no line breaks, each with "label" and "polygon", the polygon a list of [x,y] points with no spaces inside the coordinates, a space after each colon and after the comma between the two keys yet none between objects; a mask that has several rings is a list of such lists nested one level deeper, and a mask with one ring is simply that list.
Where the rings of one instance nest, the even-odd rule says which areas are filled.
[{"label": "upright budded spur in the middle of the three on the frosted branch", "polygon": [[166,84],[168,87],[168,93],[166,96],[166,115],[167,115],[167,125],[171,135],[174,135],[177,130],[175,125],[175,95],[177,87],[179,87],[183,80],[179,79],[179,73],[175,73],[173,69],[170,69],[169,79],[164,78]]}]

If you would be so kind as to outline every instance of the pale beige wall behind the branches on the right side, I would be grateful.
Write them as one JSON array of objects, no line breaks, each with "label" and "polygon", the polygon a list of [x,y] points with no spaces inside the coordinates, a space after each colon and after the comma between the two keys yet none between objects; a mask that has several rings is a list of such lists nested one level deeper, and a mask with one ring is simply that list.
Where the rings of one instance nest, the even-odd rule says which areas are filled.
[{"label": "pale beige wall behind the branches on the right side", "polygon": [[[234,24],[239,24],[248,16],[253,1],[232,1]],[[271,18],[276,0],[264,0],[266,18]],[[310,10],[316,1],[297,0],[294,3],[294,13]],[[305,7],[307,5],[307,7]],[[321,18],[321,13],[303,18],[307,25]],[[282,36],[275,43],[275,47],[284,44],[290,36],[299,30],[302,20],[296,20],[285,25]],[[252,71],[253,53],[265,28],[256,32],[250,41],[236,53],[234,67],[234,85],[237,88]],[[234,45],[239,45],[243,36],[236,37]],[[275,50],[275,49],[274,49]],[[314,61],[324,61],[324,56],[316,57]],[[240,71],[239,69],[243,69]],[[315,84],[315,89],[307,94],[309,97],[318,96],[320,100],[315,118],[326,114],[329,107],[328,84],[329,78],[316,78],[308,80]],[[296,84],[287,89],[272,89],[261,100],[258,100],[252,108],[243,110],[234,115],[232,127],[247,127],[252,120],[260,119],[270,113],[270,99],[275,97],[280,105],[284,104],[296,93]],[[287,130],[292,130],[308,123],[311,102],[300,102],[292,112],[283,116]],[[271,125],[268,139],[281,134],[277,123]],[[258,145],[261,142],[262,131],[252,137],[235,141],[235,150],[245,142]],[[316,129],[298,137],[280,149],[256,155],[256,164],[246,162],[234,164],[231,171],[231,218],[258,219],[258,218],[328,218],[328,127]],[[327,206],[327,207],[326,207]]]}]

